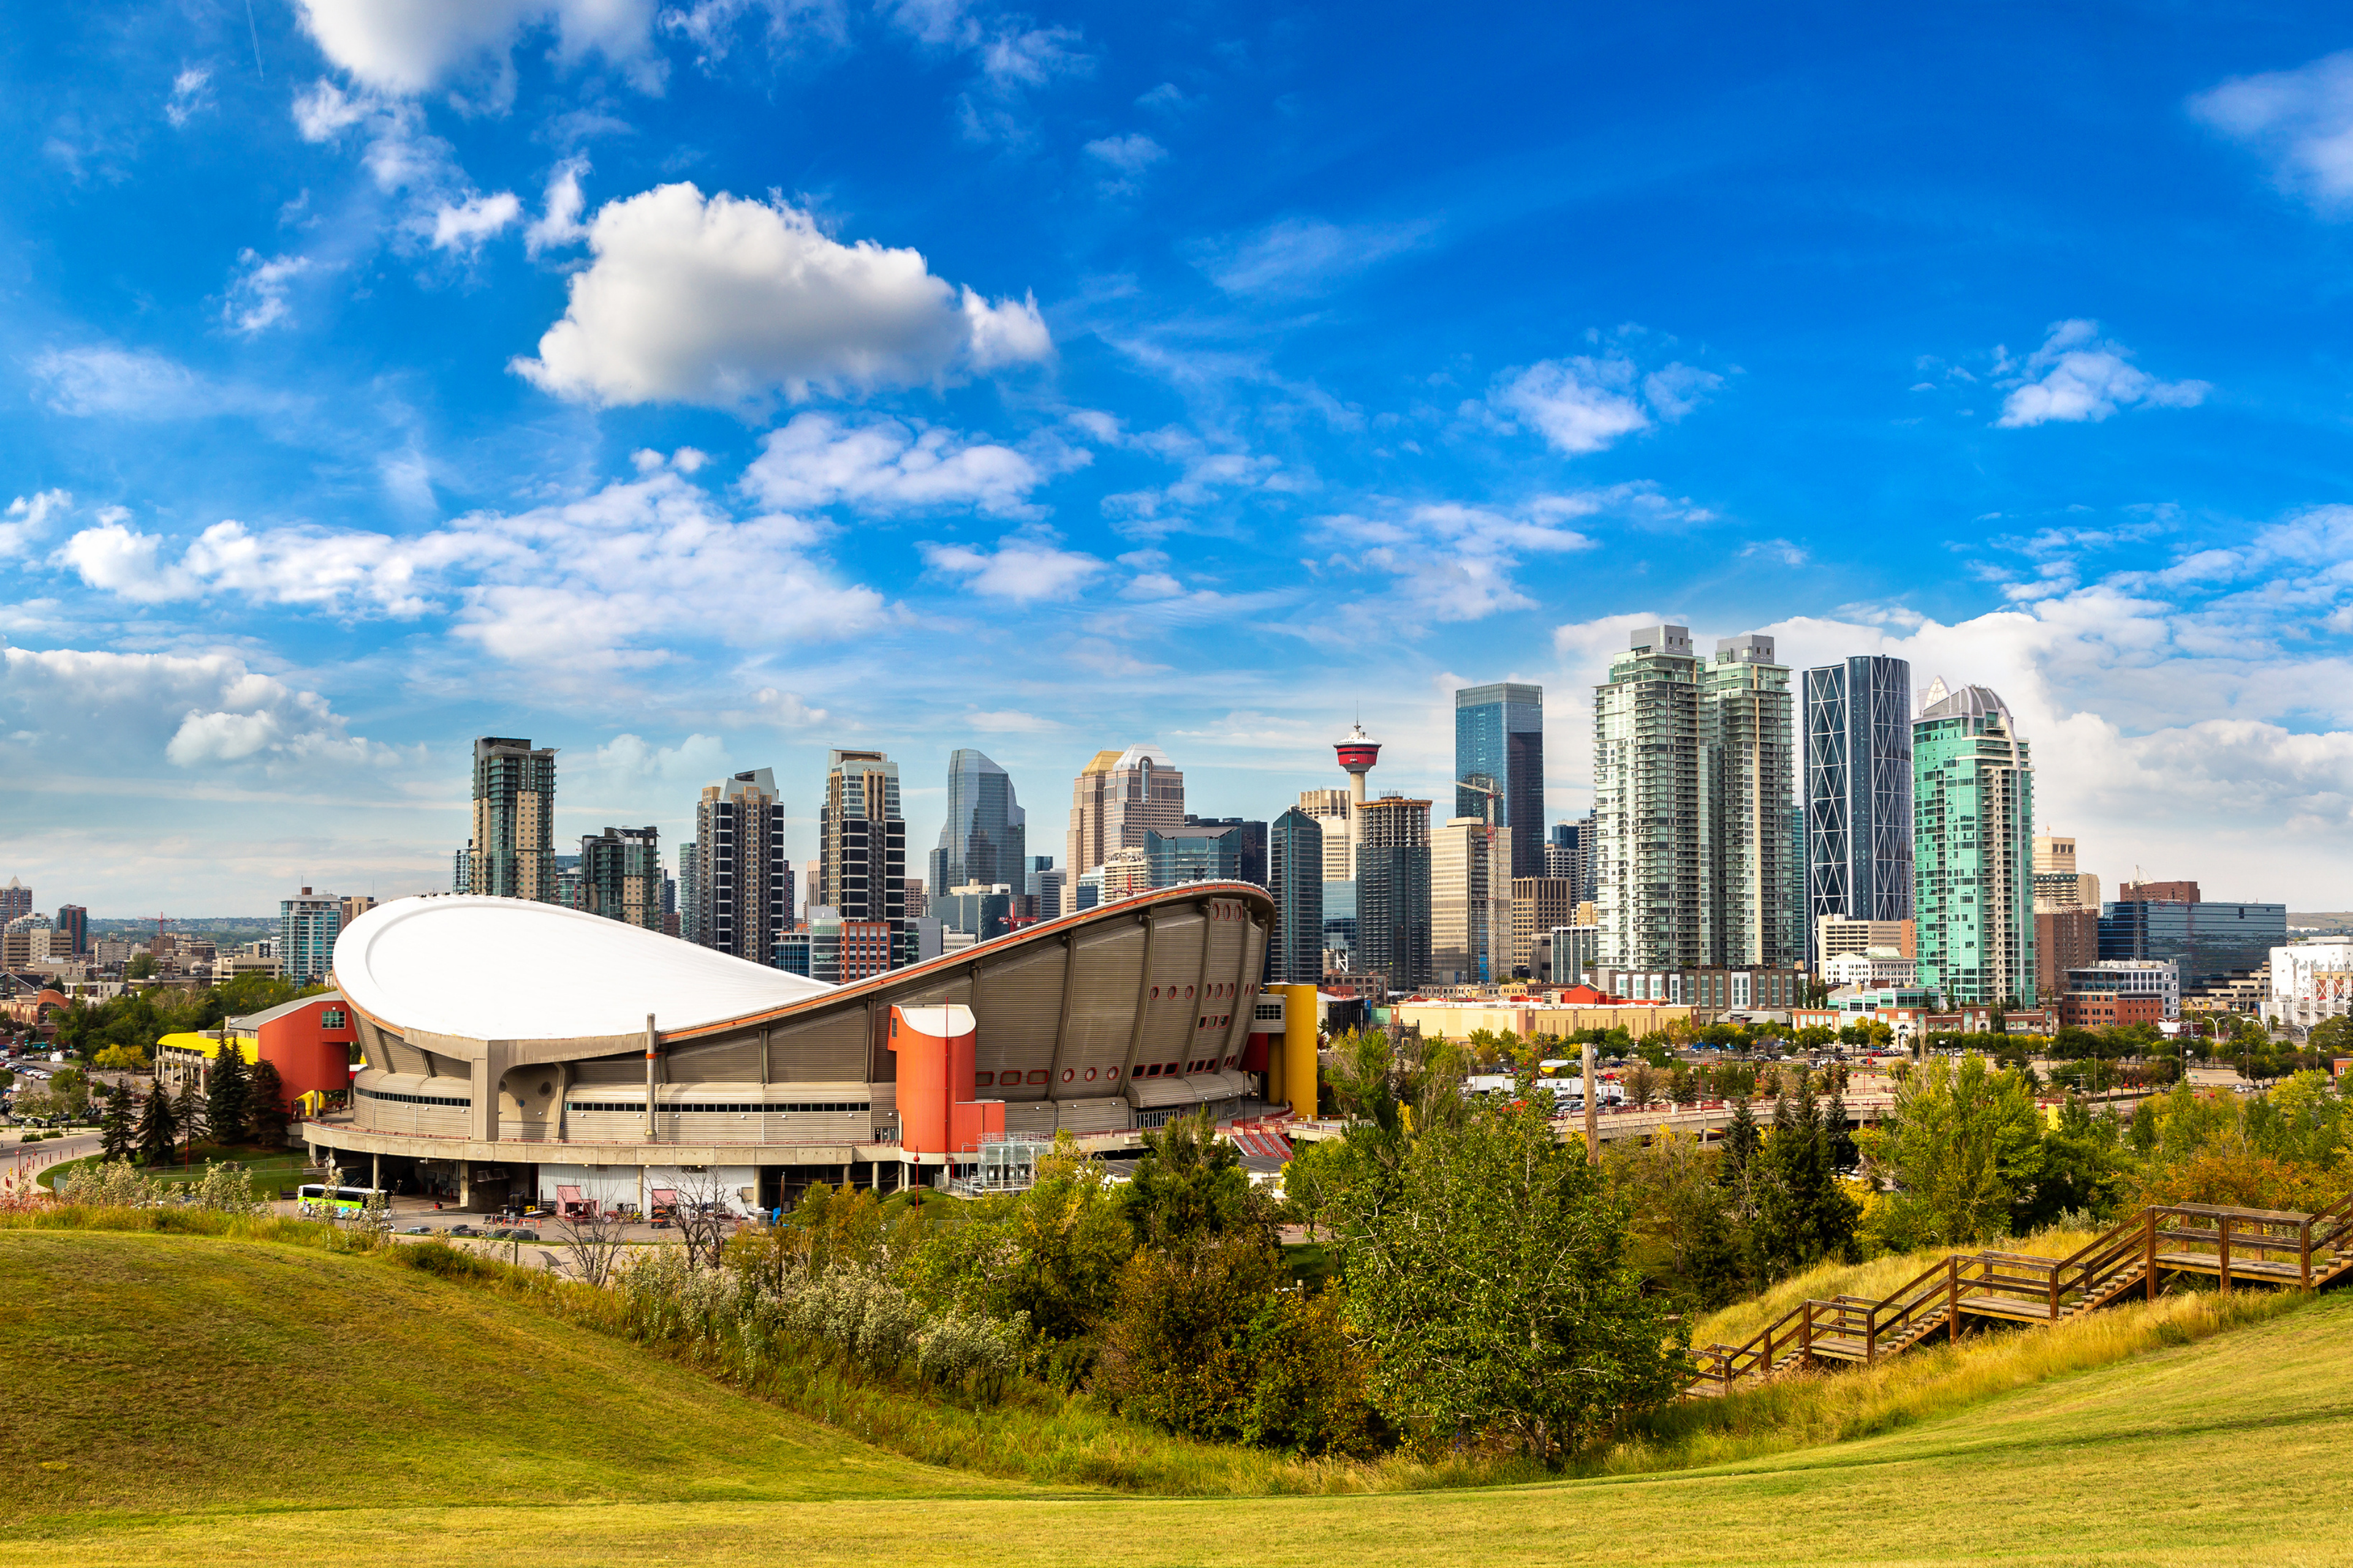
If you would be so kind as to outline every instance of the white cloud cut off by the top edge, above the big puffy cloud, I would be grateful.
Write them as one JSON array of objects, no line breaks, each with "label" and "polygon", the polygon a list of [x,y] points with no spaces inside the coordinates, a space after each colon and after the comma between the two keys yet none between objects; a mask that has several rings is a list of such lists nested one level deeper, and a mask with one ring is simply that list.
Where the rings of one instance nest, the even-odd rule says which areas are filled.
[{"label": "white cloud cut off by the top edge, above the big puffy cloud", "polygon": [[379,92],[416,94],[478,71],[506,78],[527,28],[555,31],[565,66],[602,54],[640,89],[661,87],[654,0],[296,0],[320,54]]}]

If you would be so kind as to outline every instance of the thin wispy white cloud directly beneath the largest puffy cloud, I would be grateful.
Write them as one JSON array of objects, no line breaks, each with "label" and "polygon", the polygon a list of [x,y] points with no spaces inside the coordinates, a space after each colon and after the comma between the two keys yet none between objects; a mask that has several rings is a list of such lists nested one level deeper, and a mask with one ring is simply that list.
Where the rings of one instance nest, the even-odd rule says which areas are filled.
[{"label": "thin wispy white cloud directly beneath the largest puffy cloud", "polygon": [[951,505],[1024,515],[1028,494],[1045,482],[1012,447],[960,442],[939,428],[918,433],[896,418],[852,425],[833,414],[798,414],[760,447],[744,489],[781,510],[845,501],[871,512]]}]

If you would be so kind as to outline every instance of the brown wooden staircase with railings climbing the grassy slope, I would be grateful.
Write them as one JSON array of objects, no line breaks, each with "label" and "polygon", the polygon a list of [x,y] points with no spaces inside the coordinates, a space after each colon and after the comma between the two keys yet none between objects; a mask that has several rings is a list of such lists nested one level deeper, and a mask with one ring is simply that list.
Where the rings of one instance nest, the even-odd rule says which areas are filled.
[{"label": "brown wooden staircase with railings climbing the grassy slope", "polygon": [[2209,1274],[2224,1295],[2240,1284],[2320,1291],[2353,1276],[2353,1197],[2320,1213],[2160,1204],[2071,1258],[1953,1253],[1885,1298],[1807,1300],[1746,1345],[1697,1347],[1685,1396],[1727,1394],[1824,1361],[1871,1363],[1937,1333],[1951,1342],[1972,1316],[2064,1324],[2134,1293],[2155,1300],[2165,1274]]}]

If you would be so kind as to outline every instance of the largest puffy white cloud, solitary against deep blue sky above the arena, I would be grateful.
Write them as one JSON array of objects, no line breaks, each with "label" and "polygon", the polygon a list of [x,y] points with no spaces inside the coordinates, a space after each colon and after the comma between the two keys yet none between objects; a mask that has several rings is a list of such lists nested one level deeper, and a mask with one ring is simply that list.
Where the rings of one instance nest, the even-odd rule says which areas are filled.
[{"label": "largest puffy white cloud, solitary against deep blue sky above the arena", "polygon": [[659,186],[607,202],[588,247],[565,317],[513,364],[558,397],[741,407],[1052,353],[1035,301],[958,294],[920,252],[842,244],[781,200]]}]

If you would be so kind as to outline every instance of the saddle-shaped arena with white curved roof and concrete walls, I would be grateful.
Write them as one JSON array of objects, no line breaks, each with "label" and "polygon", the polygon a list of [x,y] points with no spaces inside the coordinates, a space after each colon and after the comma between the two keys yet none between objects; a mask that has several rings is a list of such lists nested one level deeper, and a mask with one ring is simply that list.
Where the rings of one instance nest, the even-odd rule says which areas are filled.
[{"label": "saddle-shaped arena with white curved roof and concrete walls", "polygon": [[974,1030],[955,1093],[1002,1105],[991,1131],[1132,1147],[1264,1093],[1271,924],[1264,889],[1191,884],[826,985],[558,905],[405,898],[336,940],[362,1065],[348,1112],[296,1135],[348,1180],[461,1208],[934,1182],[976,1152],[901,1135],[892,1020],[948,1006]]}]

